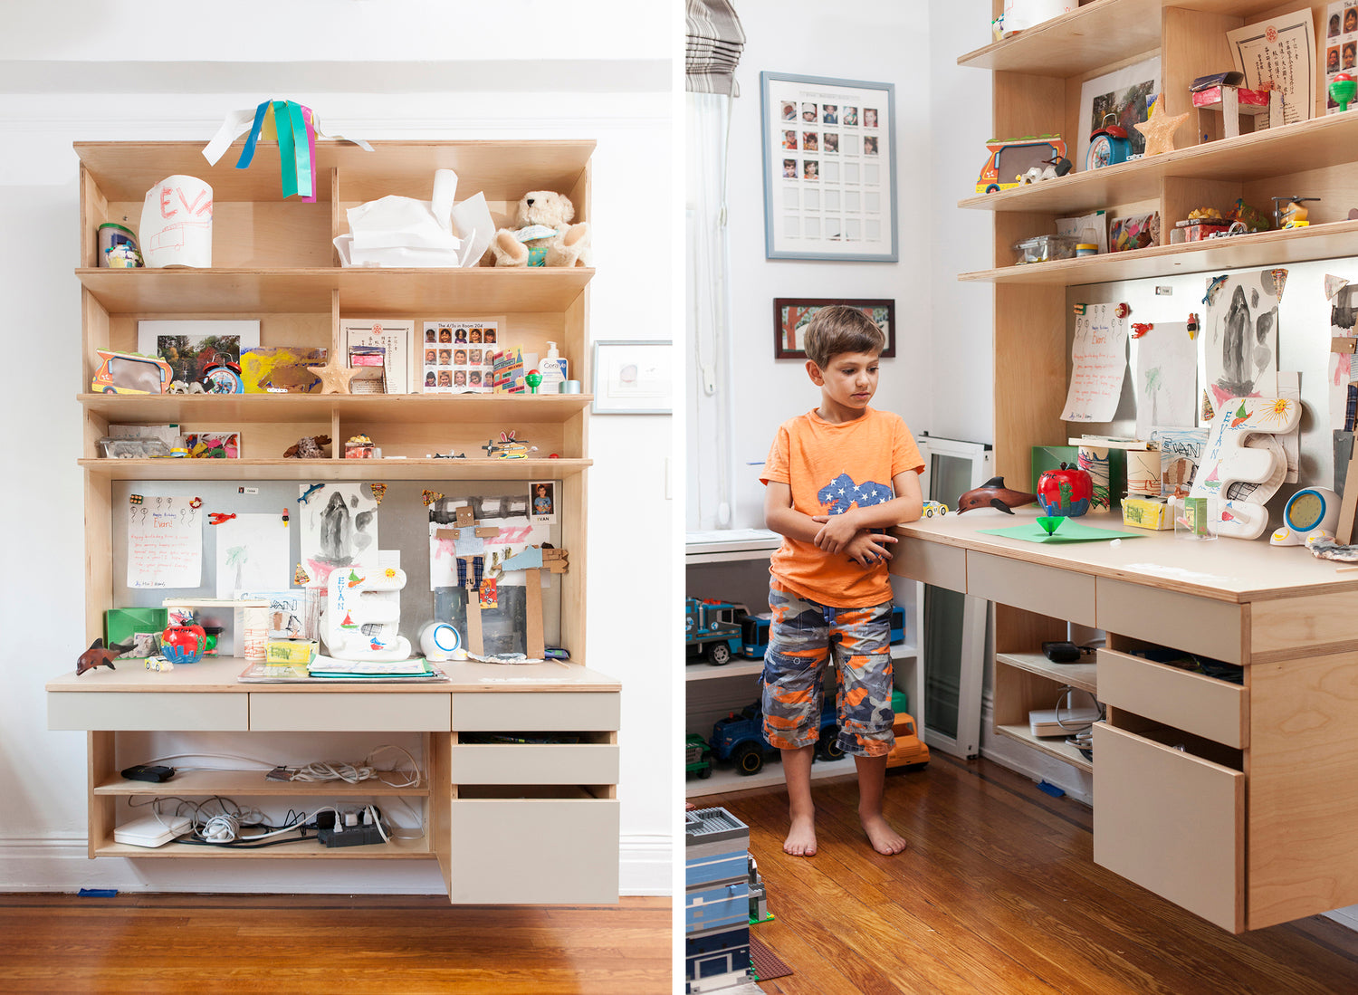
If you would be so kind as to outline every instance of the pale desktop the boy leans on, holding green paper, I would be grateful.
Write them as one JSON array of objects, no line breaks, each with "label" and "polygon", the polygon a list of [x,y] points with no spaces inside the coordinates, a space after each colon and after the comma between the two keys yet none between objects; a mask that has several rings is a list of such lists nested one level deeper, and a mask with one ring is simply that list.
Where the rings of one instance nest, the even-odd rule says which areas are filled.
[{"label": "pale desktop the boy leans on, holding green paper", "polygon": [[1173,531],[1150,532],[1124,528],[1118,513],[1090,513],[1078,521],[1090,528],[1134,532],[1119,544],[1029,543],[1009,536],[985,535],[980,529],[1006,528],[1038,519],[1036,505],[1014,509],[1013,514],[983,508],[964,514],[921,519],[898,525],[894,532],[944,546],[990,552],[1009,559],[1088,573],[1128,584],[1145,584],[1167,590],[1221,601],[1264,601],[1332,592],[1358,592],[1358,570],[1339,571],[1331,559],[1319,559],[1301,546],[1270,546],[1268,533],[1252,542],[1176,539]]}]

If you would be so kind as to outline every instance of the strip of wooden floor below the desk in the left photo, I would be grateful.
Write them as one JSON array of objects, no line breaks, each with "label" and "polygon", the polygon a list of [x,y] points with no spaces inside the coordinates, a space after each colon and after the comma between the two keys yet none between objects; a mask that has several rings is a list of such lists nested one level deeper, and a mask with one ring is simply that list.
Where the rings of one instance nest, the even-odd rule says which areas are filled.
[{"label": "strip of wooden floor below the desk in the left photo", "polygon": [[0,992],[668,995],[669,899],[0,895]]}]

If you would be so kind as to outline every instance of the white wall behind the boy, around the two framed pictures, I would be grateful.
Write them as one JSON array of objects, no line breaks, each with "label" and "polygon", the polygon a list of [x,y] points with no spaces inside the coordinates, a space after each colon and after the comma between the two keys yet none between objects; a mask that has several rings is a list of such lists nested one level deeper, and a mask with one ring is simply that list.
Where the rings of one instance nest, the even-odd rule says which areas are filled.
[{"label": "white wall behind the boy, around the two framed pictures", "polygon": [[[801,362],[773,358],[774,297],[892,297],[896,358],[883,360],[876,407],[928,426],[930,390],[929,24],[919,4],[865,0],[853,10],[815,0],[741,0],[747,45],[731,128],[732,424],[736,528],[763,525],[759,467],[778,425],[819,403]],[[904,43],[913,39],[911,43]],[[915,54],[911,54],[911,48]],[[765,258],[759,122],[762,71],[894,83],[900,262],[796,262]],[[697,459],[709,460],[701,451]],[[758,466],[747,466],[758,463]],[[695,523],[690,523],[695,525]],[[713,525],[705,525],[712,528]]]}]

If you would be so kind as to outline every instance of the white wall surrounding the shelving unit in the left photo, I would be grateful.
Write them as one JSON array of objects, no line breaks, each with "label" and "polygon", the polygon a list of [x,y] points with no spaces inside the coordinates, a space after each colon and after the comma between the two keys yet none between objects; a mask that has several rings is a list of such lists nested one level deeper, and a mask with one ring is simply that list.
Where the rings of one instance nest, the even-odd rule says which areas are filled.
[{"label": "white wall surrounding the shelving unit in the left photo", "polygon": [[[596,4],[622,5],[611,0]],[[383,10],[391,7],[397,4]],[[410,7],[424,8],[426,20],[436,8],[445,10],[443,4]],[[120,27],[133,23],[133,8],[151,15],[153,37],[137,38]],[[308,11],[308,30],[319,31],[325,46],[303,42],[291,52],[292,58],[320,61],[308,62],[312,88],[287,90],[278,80],[296,81],[288,76],[295,67],[269,62],[289,54],[255,26],[270,23],[280,10],[281,16],[297,16],[297,8]],[[303,100],[318,110],[327,129],[371,138],[592,137],[598,151],[591,221],[599,269],[591,290],[592,334],[678,338],[668,320],[671,281],[655,278],[657,273],[668,277],[675,262],[669,212],[656,212],[645,254],[625,243],[634,233],[638,205],[667,198],[671,183],[669,53],[657,41],[671,37],[665,34],[668,15],[656,20],[657,15],[626,4],[627,22],[610,30],[579,11],[564,19],[554,12],[559,5],[500,4],[474,11],[471,22],[444,14],[437,23],[407,34],[391,18],[375,18],[378,8],[361,0],[238,3],[231,14],[242,24],[249,22],[250,31],[235,20],[219,23],[171,3],[90,4],[87,20],[72,16],[67,5],[24,5],[22,20],[14,22],[16,30],[7,23],[0,56],[33,61],[0,61],[0,144],[10,152],[0,163],[0,216],[8,247],[0,267],[0,299],[7,309],[0,341],[11,353],[23,349],[33,356],[41,375],[11,376],[3,402],[8,428],[0,433],[0,463],[20,468],[0,494],[0,516],[16,524],[0,570],[0,630],[7,633],[0,653],[0,797],[5,798],[0,890],[90,884],[186,890],[441,890],[433,862],[354,861],[327,863],[323,870],[304,862],[270,861],[268,870],[232,862],[230,871],[210,861],[87,862],[84,737],[46,730],[42,690],[48,679],[69,671],[84,649],[81,481],[75,464],[80,452],[80,409],[73,400],[80,387],[80,290],[72,277],[77,261],[72,141],[206,143],[228,110],[268,96]],[[117,14],[124,18],[113,16]],[[562,41],[592,60],[580,91],[569,72],[555,79],[549,92],[523,91],[512,80],[504,90],[493,88],[496,73],[511,71],[512,56],[539,56],[546,68],[562,67],[551,61],[551,46],[531,43],[524,24],[534,22],[523,22],[523,14],[546,19],[542,23],[554,26],[553,37],[561,35],[564,20],[576,23]],[[12,20],[8,11],[5,16]],[[479,52],[469,23],[481,41],[489,39],[485,53],[505,61],[470,71],[451,61],[425,62],[422,90],[410,88],[413,76],[392,84],[382,73],[365,72],[369,57],[398,60],[413,53],[448,60],[469,46]],[[156,39],[167,33],[190,38],[190,54],[239,60],[215,67],[213,86],[220,91],[196,91],[201,77],[183,76],[179,65],[145,69],[163,56]],[[606,52],[604,42],[629,52],[630,61],[607,64],[615,52]],[[128,77],[120,76],[118,58],[136,68]],[[39,76],[60,76],[68,83],[56,90],[34,87],[26,73],[34,67]],[[50,67],[65,67],[65,72],[50,73]],[[128,79],[136,81],[137,92],[126,90]],[[459,88],[463,81],[467,88]],[[650,320],[638,322],[642,314]],[[671,757],[678,751],[671,744],[671,673],[653,654],[637,652],[675,642],[657,634],[678,635],[669,590],[676,536],[672,505],[663,494],[669,447],[668,418],[600,417],[592,422],[588,665],[623,683],[621,881],[622,890],[633,895],[669,893],[672,885],[676,809]],[[640,523],[637,509],[648,509]],[[619,520],[629,528],[621,529]],[[646,571],[642,599],[627,596],[637,586],[638,561]]]}]

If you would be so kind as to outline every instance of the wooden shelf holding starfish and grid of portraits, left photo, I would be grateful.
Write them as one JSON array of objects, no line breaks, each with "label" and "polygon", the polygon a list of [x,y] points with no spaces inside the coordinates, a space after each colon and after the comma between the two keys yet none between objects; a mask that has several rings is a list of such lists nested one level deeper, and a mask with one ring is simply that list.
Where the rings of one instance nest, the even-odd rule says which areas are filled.
[{"label": "wooden shelf holding starfish and grid of portraits, left photo", "polygon": [[114,424],[205,421],[312,422],[338,414],[372,425],[425,421],[561,422],[592,394],[80,394],[86,410]]}]

